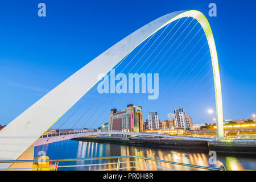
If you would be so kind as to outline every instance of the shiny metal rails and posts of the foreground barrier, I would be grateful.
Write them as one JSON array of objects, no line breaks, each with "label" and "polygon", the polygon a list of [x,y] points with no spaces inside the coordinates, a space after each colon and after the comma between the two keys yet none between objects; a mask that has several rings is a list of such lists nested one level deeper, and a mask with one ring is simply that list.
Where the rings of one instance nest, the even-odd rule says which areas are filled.
[{"label": "shiny metal rails and posts of the foreground barrier", "polygon": [[[171,162],[171,161],[167,161],[167,160],[146,158],[146,157],[143,157],[143,156],[135,156],[135,155],[129,155],[129,156],[109,156],[109,157],[98,157],[98,158],[77,158],[77,159],[47,159],[47,160],[43,160],[43,161],[44,162],[56,162],[56,163],[59,163],[59,162],[71,162],[71,161],[85,161],[85,160],[118,159],[117,168],[116,169],[119,170],[119,169],[122,169],[122,168],[120,168],[120,164],[121,163],[127,163],[127,162],[121,162],[122,158],[144,159],[146,163],[143,163],[143,164],[146,165],[146,167],[147,167],[146,170],[149,170],[149,166],[152,166],[151,164],[148,164],[148,160],[155,161],[155,162],[161,162],[161,163],[175,164],[175,165],[178,165],[178,166],[186,166],[186,167],[193,167],[193,168],[200,168],[200,169],[208,169],[208,170],[213,170],[213,171],[222,171],[222,170],[225,171],[226,170],[223,165],[221,165],[218,168],[205,167],[205,166],[197,166],[197,165],[193,165],[193,164],[184,164],[184,163]],[[26,163],[28,163],[28,162],[38,162],[38,160],[0,160],[0,163],[25,163],[25,162]],[[90,164],[90,165],[94,166],[94,164]],[[102,164],[102,165],[105,165],[105,164]],[[58,166],[56,165],[56,169],[57,169],[57,167]],[[59,167],[74,167],[74,166],[59,166]],[[159,167],[159,166],[155,166],[155,167]],[[53,168],[53,167],[49,167],[49,168]],[[22,168],[20,168],[20,169],[22,169]]]}]

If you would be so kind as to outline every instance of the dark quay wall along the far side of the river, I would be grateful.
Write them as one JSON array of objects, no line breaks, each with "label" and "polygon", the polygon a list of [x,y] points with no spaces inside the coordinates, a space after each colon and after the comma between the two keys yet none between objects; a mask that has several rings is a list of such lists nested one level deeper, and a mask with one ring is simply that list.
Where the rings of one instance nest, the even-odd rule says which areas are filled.
[{"label": "dark quay wall along the far side of the river", "polygon": [[84,142],[126,144],[131,146],[193,150],[200,152],[216,151],[229,154],[256,154],[256,142],[206,142],[198,140],[127,138],[119,137],[81,137],[73,140]]}]

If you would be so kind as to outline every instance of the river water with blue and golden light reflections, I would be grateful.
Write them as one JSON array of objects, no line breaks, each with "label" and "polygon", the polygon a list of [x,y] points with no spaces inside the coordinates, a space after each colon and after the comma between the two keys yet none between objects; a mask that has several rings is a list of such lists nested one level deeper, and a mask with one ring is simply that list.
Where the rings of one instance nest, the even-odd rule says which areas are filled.
[{"label": "river water with blue and golden light reflections", "polygon": [[[42,152],[43,151],[43,152]],[[137,155],[147,158],[160,160],[168,160],[177,163],[193,164],[197,166],[218,167],[224,164],[227,170],[256,170],[255,155],[234,155],[234,154],[217,154],[217,164],[209,164],[207,152],[193,152],[188,150],[172,150],[170,148],[148,148],[140,146],[129,146],[122,144],[97,143],[97,142],[79,142],[76,140],[64,140],[61,142],[49,143],[43,146],[35,147],[35,156],[46,153],[50,159],[74,159],[74,158],[96,158],[105,156],[127,156]],[[126,161],[128,159],[123,159]],[[143,163],[142,159],[135,159],[137,162]],[[94,160],[94,161],[78,161],[78,162],[60,162],[59,166],[65,165],[81,165],[91,163],[114,163],[117,160]],[[149,162],[155,166],[172,168],[175,170],[199,170],[197,168],[177,166],[173,164],[163,164],[159,162]],[[139,168],[146,168],[144,164],[135,164]],[[121,167],[133,166],[132,163],[121,164]],[[116,164],[108,164],[105,166],[91,166],[90,169],[111,169]],[[65,167],[60,170],[88,170],[89,167]],[[163,168],[150,167],[151,170],[164,170]]]}]

